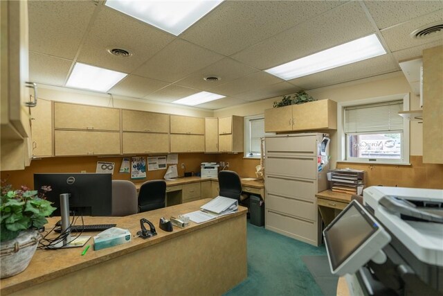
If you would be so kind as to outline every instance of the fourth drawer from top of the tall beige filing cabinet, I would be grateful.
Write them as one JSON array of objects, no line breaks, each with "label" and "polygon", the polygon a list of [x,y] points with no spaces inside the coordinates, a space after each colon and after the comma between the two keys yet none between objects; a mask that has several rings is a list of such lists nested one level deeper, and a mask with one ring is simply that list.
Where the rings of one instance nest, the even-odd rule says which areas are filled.
[{"label": "fourth drawer from top of the tall beige filing cabinet", "polygon": [[315,200],[310,202],[306,200],[296,200],[295,198],[286,198],[271,193],[266,195],[266,209],[312,221],[316,220],[317,214]]}]

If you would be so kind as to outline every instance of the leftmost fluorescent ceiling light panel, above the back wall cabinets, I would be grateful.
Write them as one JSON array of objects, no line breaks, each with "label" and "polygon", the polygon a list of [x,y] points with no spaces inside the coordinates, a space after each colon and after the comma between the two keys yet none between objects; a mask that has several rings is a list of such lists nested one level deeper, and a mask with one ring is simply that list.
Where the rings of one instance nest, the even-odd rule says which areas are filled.
[{"label": "leftmost fluorescent ceiling light panel, above the back wall cabinets", "polygon": [[76,62],[71,76],[69,76],[68,82],[66,82],[66,86],[79,89],[91,89],[97,92],[107,92],[126,76],[127,74],[125,73]]}]

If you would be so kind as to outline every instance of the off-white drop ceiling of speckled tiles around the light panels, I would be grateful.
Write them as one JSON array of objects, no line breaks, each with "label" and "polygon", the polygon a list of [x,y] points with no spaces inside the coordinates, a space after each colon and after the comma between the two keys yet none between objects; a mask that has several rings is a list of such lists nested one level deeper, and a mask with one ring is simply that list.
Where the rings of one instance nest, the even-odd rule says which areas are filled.
[{"label": "off-white drop ceiling of speckled tiles around the light panels", "polygon": [[[177,37],[104,1],[29,1],[28,13],[30,80],[64,87],[82,62],[128,73],[109,90],[114,96],[161,103],[202,91],[226,96],[197,106],[208,110],[401,71],[399,61],[443,44],[442,34],[409,36],[443,20],[443,1],[224,1]],[[264,72],[372,33],[388,54],[289,81]]]}]

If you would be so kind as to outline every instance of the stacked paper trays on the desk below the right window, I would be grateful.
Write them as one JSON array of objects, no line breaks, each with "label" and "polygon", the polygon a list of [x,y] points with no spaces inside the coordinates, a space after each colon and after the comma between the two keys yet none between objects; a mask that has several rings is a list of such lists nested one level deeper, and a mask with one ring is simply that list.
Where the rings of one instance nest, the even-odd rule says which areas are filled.
[{"label": "stacked paper trays on the desk below the right window", "polygon": [[336,169],[331,174],[331,190],[335,192],[361,195],[365,187],[365,171]]}]

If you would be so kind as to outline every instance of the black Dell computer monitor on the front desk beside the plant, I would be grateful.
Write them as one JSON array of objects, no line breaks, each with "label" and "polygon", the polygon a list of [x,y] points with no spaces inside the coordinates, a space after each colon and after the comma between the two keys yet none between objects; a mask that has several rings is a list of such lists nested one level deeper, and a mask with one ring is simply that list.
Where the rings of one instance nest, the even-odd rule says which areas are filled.
[{"label": "black Dell computer monitor on the front desk beside the plant", "polygon": [[46,199],[60,216],[60,194],[70,193],[69,210],[76,216],[110,216],[112,211],[112,178],[110,173],[35,173],[34,189],[51,186]]}]

